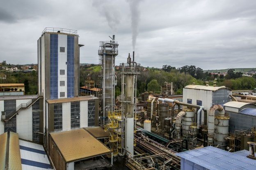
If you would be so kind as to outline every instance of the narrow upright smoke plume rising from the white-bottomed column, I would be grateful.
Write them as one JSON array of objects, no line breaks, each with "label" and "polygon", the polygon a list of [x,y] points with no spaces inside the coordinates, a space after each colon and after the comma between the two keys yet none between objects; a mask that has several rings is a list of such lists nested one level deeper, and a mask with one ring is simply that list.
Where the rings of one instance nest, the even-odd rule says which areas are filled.
[{"label": "narrow upright smoke plume rising from the white-bottomed column", "polygon": [[132,43],[133,43],[133,51],[135,50],[137,36],[139,34],[139,3],[141,0],[127,0],[130,6],[131,12],[131,29],[132,29]]}]

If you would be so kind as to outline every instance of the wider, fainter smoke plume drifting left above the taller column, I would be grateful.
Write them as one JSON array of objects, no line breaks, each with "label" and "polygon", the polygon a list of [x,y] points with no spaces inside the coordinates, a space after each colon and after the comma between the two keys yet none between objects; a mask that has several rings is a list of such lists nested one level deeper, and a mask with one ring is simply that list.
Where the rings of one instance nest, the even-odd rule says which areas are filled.
[{"label": "wider, fainter smoke plume drifting left above the taller column", "polygon": [[121,15],[114,7],[114,3],[110,0],[93,0],[92,6],[98,9],[100,15],[106,17],[107,25],[112,29],[112,32],[117,33]]}]

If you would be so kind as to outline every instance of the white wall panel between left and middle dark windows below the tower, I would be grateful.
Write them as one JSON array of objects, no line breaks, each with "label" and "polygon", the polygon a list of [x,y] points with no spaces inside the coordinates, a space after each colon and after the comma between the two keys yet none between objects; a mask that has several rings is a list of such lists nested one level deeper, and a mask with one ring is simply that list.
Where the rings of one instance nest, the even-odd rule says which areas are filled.
[{"label": "white wall panel between left and middle dark windows below the tower", "polygon": [[71,129],[70,102],[62,103],[62,130]]}]

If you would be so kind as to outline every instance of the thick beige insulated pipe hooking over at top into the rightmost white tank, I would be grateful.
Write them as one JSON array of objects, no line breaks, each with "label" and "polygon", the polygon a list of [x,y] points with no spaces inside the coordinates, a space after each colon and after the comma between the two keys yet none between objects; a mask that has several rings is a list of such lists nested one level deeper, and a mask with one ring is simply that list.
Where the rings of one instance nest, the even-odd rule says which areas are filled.
[{"label": "thick beige insulated pipe hooking over at top into the rightmost white tank", "polygon": [[216,104],[210,107],[210,111],[208,114],[208,145],[213,145],[213,137],[214,137],[214,116],[215,111],[218,110],[220,115],[224,115],[225,111],[222,105]]}]

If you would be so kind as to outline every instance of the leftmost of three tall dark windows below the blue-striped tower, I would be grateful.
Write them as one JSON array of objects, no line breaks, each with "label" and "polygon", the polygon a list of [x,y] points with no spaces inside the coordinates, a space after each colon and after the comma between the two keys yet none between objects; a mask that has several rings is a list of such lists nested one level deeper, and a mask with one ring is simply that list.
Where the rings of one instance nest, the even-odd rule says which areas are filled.
[{"label": "leftmost of three tall dark windows below the blue-striped tower", "polygon": [[54,131],[62,130],[62,103],[56,103],[53,106]]}]

